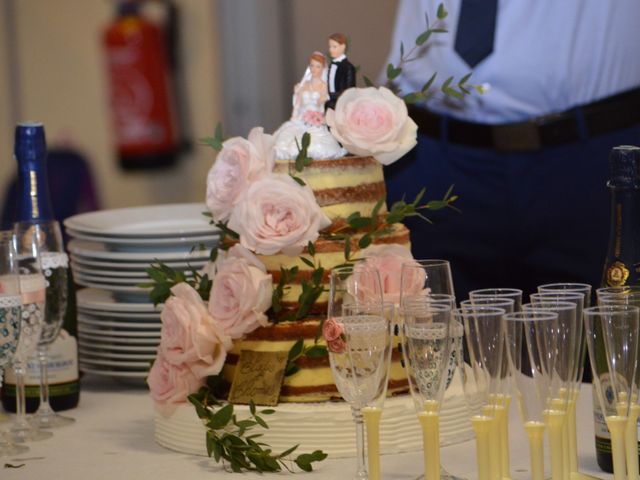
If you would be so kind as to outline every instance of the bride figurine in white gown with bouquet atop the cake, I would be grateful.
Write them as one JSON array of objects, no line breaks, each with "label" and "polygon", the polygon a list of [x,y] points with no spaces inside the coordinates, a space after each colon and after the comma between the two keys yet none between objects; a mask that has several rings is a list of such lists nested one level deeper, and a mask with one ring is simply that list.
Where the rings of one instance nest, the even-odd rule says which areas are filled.
[{"label": "bride figurine in white gown with bouquet atop the cake", "polygon": [[298,156],[298,145],[302,144],[305,132],[311,136],[307,150],[310,158],[332,159],[347,154],[333,138],[324,120],[324,104],[329,99],[326,63],[322,53],[313,52],[302,80],[293,89],[291,119],[273,134],[278,160],[293,160]]}]

